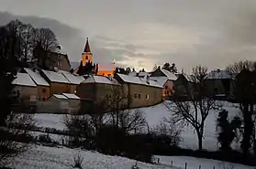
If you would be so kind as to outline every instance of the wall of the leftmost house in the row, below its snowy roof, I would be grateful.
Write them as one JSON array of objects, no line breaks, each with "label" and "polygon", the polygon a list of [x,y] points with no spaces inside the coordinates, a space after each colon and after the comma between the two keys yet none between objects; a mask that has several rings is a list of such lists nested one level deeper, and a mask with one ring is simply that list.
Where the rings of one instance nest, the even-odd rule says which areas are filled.
[{"label": "wall of the leftmost house in the row, below its snowy roof", "polygon": [[38,88],[16,85],[13,93],[20,93],[19,100],[24,102],[35,102],[38,100]]}]

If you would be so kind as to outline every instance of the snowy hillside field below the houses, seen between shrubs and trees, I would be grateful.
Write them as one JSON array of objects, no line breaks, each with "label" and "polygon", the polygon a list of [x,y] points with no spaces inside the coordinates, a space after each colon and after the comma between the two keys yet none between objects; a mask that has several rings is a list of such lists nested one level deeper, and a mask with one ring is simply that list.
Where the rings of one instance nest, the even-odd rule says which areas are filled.
[{"label": "snowy hillside field below the houses, seen between shrubs and trees", "polygon": [[[229,119],[234,117],[239,113],[239,110],[234,107],[234,104],[223,101],[221,102],[223,109],[229,111]],[[153,127],[160,123],[163,118],[171,117],[170,111],[167,110],[163,103],[156,106],[140,108],[141,111],[144,111],[146,114],[146,119],[150,125]],[[39,127],[50,127],[59,130],[64,129],[62,114],[36,114],[34,119]],[[205,139],[203,141],[203,148],[208,151],[217,151],[217,132],[216,132],[216,122],[217,122],[217,113],[212,111],[207,120],[205,128]],[[197,137],[194,130],[191,127],[184,127],[183,132],[181,133],[183,142],[180,143],[180,146],[183,148],[197,149]],[[238,148],[239,145],[236,143],[232,144],[233,148]]]}]

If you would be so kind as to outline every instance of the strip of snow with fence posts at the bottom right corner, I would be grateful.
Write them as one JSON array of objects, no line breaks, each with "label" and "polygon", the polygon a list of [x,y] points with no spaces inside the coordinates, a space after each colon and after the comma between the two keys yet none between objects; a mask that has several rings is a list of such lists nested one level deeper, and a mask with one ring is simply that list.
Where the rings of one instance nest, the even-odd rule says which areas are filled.
[{"label": "strip of snow with fence posts at the bottom right corner", "polygon": [[187,164],[187,169],[198,169],[201,165],[201,169],[255,169],[255,167],[242,165],[242,164],[231,164],[228,162],[221,162],[211,159],[187,157],[187,156],[159,156],[156,155],[155,158],[160,159],[160,164],[172,165],[175,167],[184,168],[185,163]]}]

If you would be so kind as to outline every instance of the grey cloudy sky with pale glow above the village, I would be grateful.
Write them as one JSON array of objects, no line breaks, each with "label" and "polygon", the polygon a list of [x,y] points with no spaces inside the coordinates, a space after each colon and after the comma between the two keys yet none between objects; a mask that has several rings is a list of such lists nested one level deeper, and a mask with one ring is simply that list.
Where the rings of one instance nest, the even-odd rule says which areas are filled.
[{"label": "grey cloudy sky with pale glow above the village", "polygon": [[[91,41],[95,61],[116,59],[119,65],[136,69],[150,70],[164,62],[187,71],[198,64],[223,69],[239,59],[256,59],[255,0],[0,0],[0,4],[0,11],[29,16],[39,26],[59,21],[54,31],[72,61],[80,60],[85,37]],[[46,18],[54,20],[45,22]]]}]

